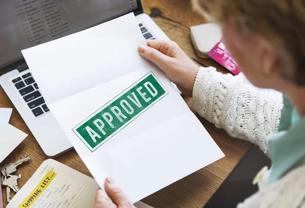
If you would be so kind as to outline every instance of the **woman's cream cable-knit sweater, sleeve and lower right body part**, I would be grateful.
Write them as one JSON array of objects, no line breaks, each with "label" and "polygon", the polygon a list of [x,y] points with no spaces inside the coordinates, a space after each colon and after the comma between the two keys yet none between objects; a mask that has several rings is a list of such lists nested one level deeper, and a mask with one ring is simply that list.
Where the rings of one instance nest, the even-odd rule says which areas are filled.
[{"label": "woman's cream cable-knit sweater, sleeve and lower right body part", "polygon": [[[283,96],[253,86],[241,73],[224,75],[215,68],[200,68],[193,90],[192,108],[216,127],[258,145],[269,156],[266,136],[278,130]],[[305,208],[305,166],[294,169],[270,186],[260,186],[238,208]]]}]

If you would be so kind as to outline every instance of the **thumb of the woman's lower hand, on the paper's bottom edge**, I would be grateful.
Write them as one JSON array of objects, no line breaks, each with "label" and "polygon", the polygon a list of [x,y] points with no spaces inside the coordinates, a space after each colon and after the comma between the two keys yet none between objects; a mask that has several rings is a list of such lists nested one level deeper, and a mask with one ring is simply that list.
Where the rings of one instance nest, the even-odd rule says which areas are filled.
[{"label": "thumb of the woman's lower hand, on the paper's bottom edge", "polygon": [[123,191],[114,184],[111,177],[105,180],[105,190],[117,207],[134,207]]}]

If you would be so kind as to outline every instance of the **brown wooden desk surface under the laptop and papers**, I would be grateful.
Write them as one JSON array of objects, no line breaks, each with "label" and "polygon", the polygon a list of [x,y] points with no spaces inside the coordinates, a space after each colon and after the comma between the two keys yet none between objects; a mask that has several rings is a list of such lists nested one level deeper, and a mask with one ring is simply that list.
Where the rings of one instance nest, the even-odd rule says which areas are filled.
[{"label": "brown wooden desk surface under the laptop and papers", "polygon": [[[227,73],[214,61],[202,60],[195,55],[190,41],[189,27],[204,23],[204,20],[199,14],[192,11],[189,1],[143,0],[143,4],[145,13],[153,17],[168,37],[176,41],[189,56],[196,58],[196,60],[207,66],[214,66],[219,71]],[[188,103],[191,102],[188,98],[186,98],[186,101]],[[2,166],[13,162],[24,154],[32,157],[31,162],[18,168],[18,173],[22,174],[18,184],[19,187],[22,187],[47,158],[2,87],[0,87],[0,107],[14,108],[10,124],[28,134],[28,137],[0,164]],[[223,130],[217,129],[202,118],[200,120],[226,157],[148,196],[143,199],[145,203],[157,208],[202,207],[226,179],[238,161],[250,150],[252,144],[249,142],[230,138]],[[55,158],[55,160],[91,176],[75,150],[69,151]],[[4,205],[6,206],[6,189],[2,188],[2,191],[5,201]]]}]

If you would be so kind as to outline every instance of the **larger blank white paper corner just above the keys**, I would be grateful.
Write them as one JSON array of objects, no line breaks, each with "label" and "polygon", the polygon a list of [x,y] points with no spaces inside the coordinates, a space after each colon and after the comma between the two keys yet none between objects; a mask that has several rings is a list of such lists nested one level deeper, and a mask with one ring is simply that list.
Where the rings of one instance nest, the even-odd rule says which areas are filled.
[{"label": "larger blank white paper corner just above the keys", "polygon": [[0,163],[25,139],[27,134],[0,121]]}]

